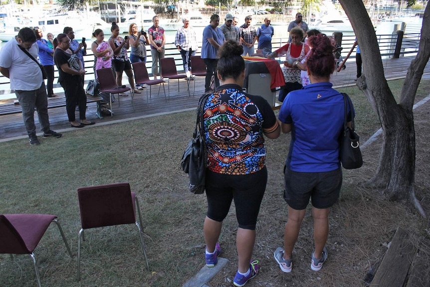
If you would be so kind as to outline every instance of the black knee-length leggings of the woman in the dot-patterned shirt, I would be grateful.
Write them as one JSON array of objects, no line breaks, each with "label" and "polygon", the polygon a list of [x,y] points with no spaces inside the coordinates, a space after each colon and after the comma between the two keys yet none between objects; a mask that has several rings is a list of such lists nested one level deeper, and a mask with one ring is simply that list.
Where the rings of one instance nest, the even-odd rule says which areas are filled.
[{"label": "black knee-length leggings of the woman in the dot-patterned shirt", "polygon": [[267,169],[245,175],[227,175],[207,171],[207,216],[222,222],[234,200],[236,218],[240,228],[255,230],[261,200],[267,183]]}]

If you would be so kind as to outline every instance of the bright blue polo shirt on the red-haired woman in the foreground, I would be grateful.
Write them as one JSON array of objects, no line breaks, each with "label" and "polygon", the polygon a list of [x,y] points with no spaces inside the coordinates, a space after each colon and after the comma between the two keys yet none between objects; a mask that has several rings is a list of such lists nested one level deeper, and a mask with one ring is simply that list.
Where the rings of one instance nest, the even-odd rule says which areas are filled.
[{"label": "bright blue polo shirt on the red-haired woman in the foreground", "polygon": [[[343,95],[329,82],[315,83],[290,92],[279,120],[291,124],[287,167],[296,172],[327,172],[340,167],[339,136],[344,125]],[[347,107],[348,121],[351,108]]]}]

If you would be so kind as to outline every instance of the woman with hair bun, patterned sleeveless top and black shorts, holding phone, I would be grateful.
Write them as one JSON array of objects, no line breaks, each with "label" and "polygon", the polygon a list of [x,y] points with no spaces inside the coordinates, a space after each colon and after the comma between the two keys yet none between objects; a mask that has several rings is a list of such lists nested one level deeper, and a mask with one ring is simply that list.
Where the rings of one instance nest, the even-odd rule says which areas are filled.
[{"label": "woman with hair bun, patterned sleeveless top and black shorts, holding phone", "polygon": [[[119,27],[116,22],[112,22],[110,30],[112,35],[110,36],[108,43],[113,50],[112,66],[116,74],[116,85],[117,87],[122,86],[122,72],[125,71],[130,88],[132,88],[132,93],[134,93],[133,71],[127,56],[127,49],[130,47],[128,36],[125,36],[124,39],[119,36]],[[127,96],[127,94],[119,95]]]}]

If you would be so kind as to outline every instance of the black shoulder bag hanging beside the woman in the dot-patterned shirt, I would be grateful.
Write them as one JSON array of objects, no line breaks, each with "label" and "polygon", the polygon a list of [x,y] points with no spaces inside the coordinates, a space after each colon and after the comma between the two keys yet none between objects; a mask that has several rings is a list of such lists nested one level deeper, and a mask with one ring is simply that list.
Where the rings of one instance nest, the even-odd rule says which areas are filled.
[{"label": "black shoulder bag hanging beside the woman in the dot-patterned shirt", "polygon": [[181,168],[188,174],[190,179],[189,190],[194,194],[203,194],[205,192],[206,161],[208,155],[204,138],[203,112],[209,95],[206,94],[199,100],[193,139],[188,143],[181,160]]}]

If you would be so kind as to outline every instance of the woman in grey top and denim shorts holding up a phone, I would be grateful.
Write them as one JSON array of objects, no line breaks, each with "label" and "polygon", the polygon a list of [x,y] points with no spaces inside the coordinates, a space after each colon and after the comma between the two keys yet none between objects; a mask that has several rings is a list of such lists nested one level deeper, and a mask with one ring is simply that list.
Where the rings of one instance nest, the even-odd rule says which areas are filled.
[{"label": "woman in grey top and denim shorts holding up a phone", "polygon": [[[149,44],[148,34],[143,27],[138,31],[137,24],[131,23],[128,28],[129,44],[131,46],[130,61],[131,63],[144,62],[146,63],[146,47]],[[137,89],[143,89],[143,86],[136,85]],[[135,91],[136,93],[140,93]]]}]

